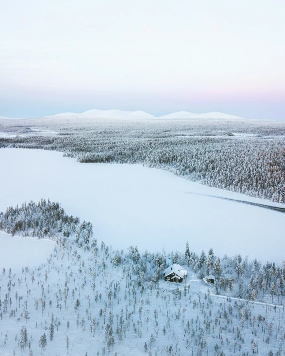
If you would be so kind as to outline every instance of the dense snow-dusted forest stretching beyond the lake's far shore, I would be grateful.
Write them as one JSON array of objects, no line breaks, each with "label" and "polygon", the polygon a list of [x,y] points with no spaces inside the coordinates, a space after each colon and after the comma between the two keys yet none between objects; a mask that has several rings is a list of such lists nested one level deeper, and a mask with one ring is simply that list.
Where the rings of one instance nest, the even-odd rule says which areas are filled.
[{"label": "dense snow-dusted forest stretching beyond the lake's far shore", "polygon": [[161,168],[202,184],[285,202],[285,124],[250,120],[41,118],[0,121],[0,147],[78,162]]}]

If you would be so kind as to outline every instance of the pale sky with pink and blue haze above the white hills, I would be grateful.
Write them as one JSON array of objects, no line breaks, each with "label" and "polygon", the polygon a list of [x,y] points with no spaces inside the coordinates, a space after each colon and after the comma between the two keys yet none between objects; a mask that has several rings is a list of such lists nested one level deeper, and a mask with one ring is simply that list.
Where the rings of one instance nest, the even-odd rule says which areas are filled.
[{"label": "pale sky with pink and blue haze above the white hills", "polygon": [[284,0],[10,0],[0,116],[220,111],[285,121]]}]

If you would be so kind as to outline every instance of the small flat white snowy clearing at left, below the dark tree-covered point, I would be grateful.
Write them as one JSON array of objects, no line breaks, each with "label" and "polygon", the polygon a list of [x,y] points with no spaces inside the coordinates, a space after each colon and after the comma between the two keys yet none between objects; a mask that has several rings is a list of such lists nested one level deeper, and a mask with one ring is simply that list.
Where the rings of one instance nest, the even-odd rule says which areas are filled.
[{"label": "small flat white snowy clearing at left, below the dark tree-covered point", "polygon": [[23,267],[35,268],[45,263],[55,243],[48,239],[11,236],[0,232],[0,271],[20,272]]}]

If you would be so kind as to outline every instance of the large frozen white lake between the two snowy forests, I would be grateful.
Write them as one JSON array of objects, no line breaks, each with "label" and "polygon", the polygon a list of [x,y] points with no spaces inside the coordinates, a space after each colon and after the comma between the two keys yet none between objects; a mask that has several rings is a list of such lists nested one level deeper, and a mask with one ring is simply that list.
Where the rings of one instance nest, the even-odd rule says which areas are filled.
[{"label": "large frozen white lake between the two snowy forests", "polygon": [[199,254],[212,247],[221,257],[241,253],[279,264],[284,259],[283,213],[187,193],[262,204],[265,200],[203,186],[158,169],[77,163],[59,152],[0,149],[0,164],[0,211],[31,199],[50,198],[68,214],[90,220],[94,236],[120,250],[137,245],[140,252],[163,248],[184,252],[188,240],[190,250]]}]

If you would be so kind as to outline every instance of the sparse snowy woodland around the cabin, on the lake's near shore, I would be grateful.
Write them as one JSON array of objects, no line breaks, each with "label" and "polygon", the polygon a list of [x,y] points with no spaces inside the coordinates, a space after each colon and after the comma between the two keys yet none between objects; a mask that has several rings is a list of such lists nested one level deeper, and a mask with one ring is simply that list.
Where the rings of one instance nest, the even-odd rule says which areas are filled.
[{"label": "sparse snowy woodland around the cabin, on the lake's near shore", "polygon": [[[285,263],[190,240],[184,253],[114,250],[94,229],[45,199],[0,213],[0,230],[54,241],[38,268],[0,272],[1,355],[285,355]],[[182,283],[164,280],[172,263]]]}]

